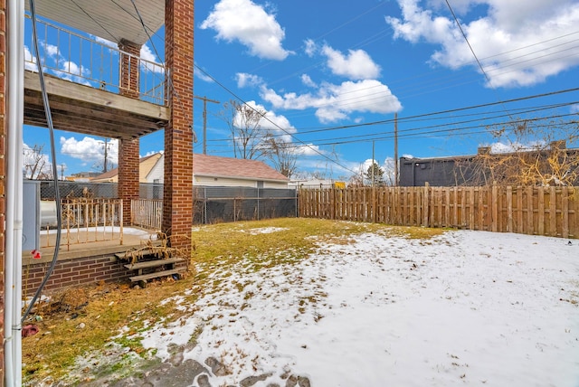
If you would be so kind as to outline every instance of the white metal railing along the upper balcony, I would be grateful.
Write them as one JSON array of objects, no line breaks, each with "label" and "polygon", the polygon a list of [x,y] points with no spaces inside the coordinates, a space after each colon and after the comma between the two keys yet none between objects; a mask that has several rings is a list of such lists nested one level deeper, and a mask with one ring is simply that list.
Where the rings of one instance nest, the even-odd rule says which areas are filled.
[{"label": "white metal railing along the upper balcony", "polygon": [[87,37],[73,33],[61,26],[37,18],[38,58],[33,57],[32,20],[25,18],[24,68],[38,71],[38,62],[43,71],[61,78],[91,86],[95,89],[122,93],[120,61],[128,55],[138,61],[139,99],[157,105],[166,105],[165,67],[147,61],[128,52],[122,52],[115,42],[98,37]]}]

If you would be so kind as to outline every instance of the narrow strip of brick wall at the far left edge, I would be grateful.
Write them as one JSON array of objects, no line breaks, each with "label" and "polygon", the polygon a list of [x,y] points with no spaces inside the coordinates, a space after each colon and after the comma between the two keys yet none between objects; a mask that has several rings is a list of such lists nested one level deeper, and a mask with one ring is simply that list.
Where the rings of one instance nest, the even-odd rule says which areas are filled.
[{"label": "narrow strip of brick wall at the far left edge", "polygon": [[[0,341],[4,343],[5,306],[5,144],[6,144],[6,1],[0,0]],[[4,345],[0,345],[0,386],[4,385]]]}]

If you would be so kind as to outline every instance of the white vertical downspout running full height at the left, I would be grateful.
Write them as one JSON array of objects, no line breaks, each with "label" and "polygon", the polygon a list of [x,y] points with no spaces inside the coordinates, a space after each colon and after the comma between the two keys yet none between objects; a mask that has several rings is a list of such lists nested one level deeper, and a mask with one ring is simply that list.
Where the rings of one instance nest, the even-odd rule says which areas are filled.
[{"label": "white vertical downspout running full height at the left", "polygon": [[5,385],[12,387],[22,384],[24,1],[9,1],[6,9]]}]

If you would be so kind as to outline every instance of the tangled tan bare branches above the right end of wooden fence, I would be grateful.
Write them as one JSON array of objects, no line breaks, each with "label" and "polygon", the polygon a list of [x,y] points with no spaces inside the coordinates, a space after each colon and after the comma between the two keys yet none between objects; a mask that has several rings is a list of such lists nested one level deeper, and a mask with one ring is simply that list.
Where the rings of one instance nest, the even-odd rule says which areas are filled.
[{"label": "tangled tan bare branches above the right end of wooden fence", "polygon": [[[579,182],[579,150],[567,149],[579,137],[576,121],[519,121],[490,127],[495,146],[479,148],[455,162],[455,179],[468,185],[574,185]],[[497,146],[500,145],[500,146]]]}]

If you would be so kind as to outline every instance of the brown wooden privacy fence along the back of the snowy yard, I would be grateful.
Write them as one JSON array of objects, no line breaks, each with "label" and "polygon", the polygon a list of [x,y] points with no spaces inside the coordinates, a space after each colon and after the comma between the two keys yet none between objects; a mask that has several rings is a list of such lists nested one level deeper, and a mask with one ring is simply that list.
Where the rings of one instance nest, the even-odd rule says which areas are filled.
[{"label": "brown wooden privacy fence along the back of the snowy yard", "polygon": [[348,187],[299,190],[299,216],[579,236],[579,187]]}]

